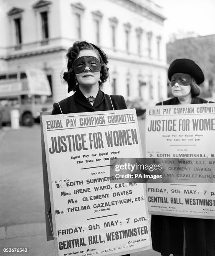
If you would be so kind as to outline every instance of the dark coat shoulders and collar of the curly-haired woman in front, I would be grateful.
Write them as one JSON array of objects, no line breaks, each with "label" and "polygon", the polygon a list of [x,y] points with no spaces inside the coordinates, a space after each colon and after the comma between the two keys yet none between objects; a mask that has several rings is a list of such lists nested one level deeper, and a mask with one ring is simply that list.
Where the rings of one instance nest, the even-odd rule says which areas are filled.
[{"label": "dark coat shoulders and collar of the curly-haired woman in front", "polygon": [[[126,109],[126,104],[123,96],[111,95],[110,96],[99,90],[96,95],[94,105],[92,106],[83,93],[77,90],[72,96],[61,100],[59,102],[63,114],[68,113],[81,113],[81,112],[92,112],[92,111],[104,111],[113,110],[111,105],[113,103],[114,109]],[[54,103],[54,109],[52,115],[61,114],[61,110],[57,103]]]}]

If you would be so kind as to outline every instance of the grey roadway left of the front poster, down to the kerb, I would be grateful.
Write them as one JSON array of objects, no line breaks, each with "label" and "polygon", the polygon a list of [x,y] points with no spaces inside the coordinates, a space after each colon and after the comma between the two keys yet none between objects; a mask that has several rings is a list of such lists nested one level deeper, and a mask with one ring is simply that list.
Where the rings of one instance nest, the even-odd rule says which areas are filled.
[{"label": "grey roadway left of the front poster, down to the kerb", "polygon": [[3,132],[0,226],[44,222],[40,127]]}]

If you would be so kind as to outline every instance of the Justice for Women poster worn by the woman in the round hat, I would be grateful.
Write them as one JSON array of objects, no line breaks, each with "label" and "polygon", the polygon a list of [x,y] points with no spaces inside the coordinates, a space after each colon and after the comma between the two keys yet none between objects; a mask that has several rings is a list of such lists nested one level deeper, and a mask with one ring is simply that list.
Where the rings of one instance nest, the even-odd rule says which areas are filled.
[{"label": "Justice for Women poster worn by the woman in the round hat", "polygon": [[[150,213],[215,219],[214,134],[215,104],[147,109],[146,157],[167,158],[164,164],[172,166],[169,158],[175,158],[178,163],[178,167],[169,172],[175,177],[174,182],[169,176],[169,184],[147,184]],[[191,159],[190,169],[180,167],[180,164],[189,164]]]}]

